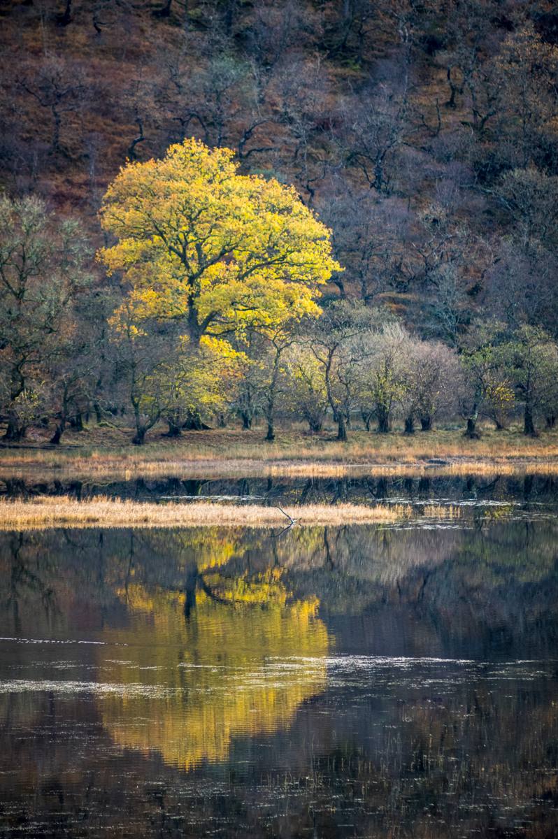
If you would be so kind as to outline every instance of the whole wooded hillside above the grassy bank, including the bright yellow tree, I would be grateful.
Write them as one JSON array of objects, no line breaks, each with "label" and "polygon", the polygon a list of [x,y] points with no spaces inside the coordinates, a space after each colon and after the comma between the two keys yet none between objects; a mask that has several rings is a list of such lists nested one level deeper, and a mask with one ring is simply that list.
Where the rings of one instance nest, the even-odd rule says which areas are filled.
[{"label": "whole wooded hillside above the grassy bank, including the bright yellow tree", "polygon": [[[0,23],[8,443],[555,425],[553,3],[18,0]],[[178,216],[194,267],[157,227]]]}]

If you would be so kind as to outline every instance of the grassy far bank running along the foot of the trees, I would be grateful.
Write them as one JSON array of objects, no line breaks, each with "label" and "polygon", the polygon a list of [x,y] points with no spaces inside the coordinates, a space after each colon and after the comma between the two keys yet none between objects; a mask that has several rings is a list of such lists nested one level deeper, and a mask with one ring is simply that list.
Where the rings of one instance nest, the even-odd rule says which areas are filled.
[{"label": "grassy far bank running along the foot of the trees", "polygon": [[124,430],[93,426],[79,434],[69,432],[58,447],[40,440],[0,447],[0,477],[334,477],[432,469],[451,474],[558,473],[558,431],[529,438],[517,429],[486,429],[480,440],[467,440],[461,430],[410,436],[355,430],[347,443],[340,443],[332,433],[310,436],[289,430],[266,443],[261,430],[226,429],[187,432],[175,440],[154,434],[145,446],[135,447]]}]

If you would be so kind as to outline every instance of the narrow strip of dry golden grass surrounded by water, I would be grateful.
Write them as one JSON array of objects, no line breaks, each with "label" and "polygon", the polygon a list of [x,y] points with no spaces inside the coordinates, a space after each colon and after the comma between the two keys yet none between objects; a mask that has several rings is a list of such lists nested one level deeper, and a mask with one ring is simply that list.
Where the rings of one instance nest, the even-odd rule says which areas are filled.
[{"label": "narrow strip of dry golden grass surrounded by water", "polygon": [[277,527],[289,519],[301,525],[380,524],[409,518],[411,508],[368,507],[364,504],[309,504],[300,507],[263,507],[253,504],[142,503],[95,498],[76,501],[69,496],[38,496],[32,501],[0,500],[0,530],[48,528],[176,528]]}]

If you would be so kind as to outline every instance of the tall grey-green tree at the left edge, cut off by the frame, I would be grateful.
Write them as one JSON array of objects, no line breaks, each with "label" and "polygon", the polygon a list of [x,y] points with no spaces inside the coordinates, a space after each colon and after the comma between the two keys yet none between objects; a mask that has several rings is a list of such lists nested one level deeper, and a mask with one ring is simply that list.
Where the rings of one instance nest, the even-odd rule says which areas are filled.
[{"label": "tall grey-green tree at the left edge, cut off by the frame", "polygon": [[[58,373],[76,329],[75,305],[90,279],[76,221],[58,220],[42,201],[0,198],[0,378],[7,440],[20,440]],[[25,405],[25,410],[22,406]]]}]

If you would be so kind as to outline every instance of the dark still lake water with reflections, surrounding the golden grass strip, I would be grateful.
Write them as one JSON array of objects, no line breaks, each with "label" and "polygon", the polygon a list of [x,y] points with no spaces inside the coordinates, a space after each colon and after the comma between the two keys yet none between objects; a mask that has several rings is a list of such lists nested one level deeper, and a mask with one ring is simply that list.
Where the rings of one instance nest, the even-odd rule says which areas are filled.
[{"label": "dark still lake water with reflections, surrounding the golden grass strip", "polygon": [[440,481],[428,529],[0,534],[0,836],[558,836],[555,486]]}]

